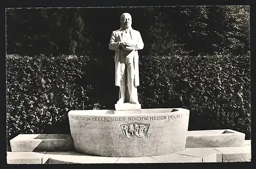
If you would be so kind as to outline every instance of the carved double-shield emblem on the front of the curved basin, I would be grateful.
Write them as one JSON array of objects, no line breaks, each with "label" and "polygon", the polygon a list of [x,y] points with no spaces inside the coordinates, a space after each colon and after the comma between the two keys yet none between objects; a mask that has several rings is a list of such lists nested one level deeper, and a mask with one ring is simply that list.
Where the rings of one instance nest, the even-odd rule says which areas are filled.
[{"label": "carved double-shield emblem on the front of the curved basin", "polygon": [[132,138],[134,136],[143,138],[146,136],[148,128],[150,128],[150,124],[143,123],[128,123],[120,126],[125,138]]}]

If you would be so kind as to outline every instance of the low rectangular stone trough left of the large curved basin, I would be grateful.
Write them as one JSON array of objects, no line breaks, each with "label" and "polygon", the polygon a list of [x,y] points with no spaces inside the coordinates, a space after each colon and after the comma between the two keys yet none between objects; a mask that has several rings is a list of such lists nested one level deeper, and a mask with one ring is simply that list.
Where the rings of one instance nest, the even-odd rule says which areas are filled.
[{"label": "low rectangular stone trough left of the large curved basin", "polygon": [[10,147],[12,152],[74,151],[69,134],[19,134]]}]

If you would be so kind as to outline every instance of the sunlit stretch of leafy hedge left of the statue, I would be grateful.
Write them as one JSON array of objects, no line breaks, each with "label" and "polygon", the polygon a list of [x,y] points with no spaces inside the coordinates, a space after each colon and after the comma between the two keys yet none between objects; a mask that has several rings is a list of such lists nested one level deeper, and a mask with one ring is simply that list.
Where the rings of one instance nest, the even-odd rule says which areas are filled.
[{"label": "sunlit stretch of leafy hedge left of the statue", "polygon": [[[87,57],[7,57],[7,135],[67,133],[67,112],[90,109]],[[54,126],[54,127],[53,127]]]}]

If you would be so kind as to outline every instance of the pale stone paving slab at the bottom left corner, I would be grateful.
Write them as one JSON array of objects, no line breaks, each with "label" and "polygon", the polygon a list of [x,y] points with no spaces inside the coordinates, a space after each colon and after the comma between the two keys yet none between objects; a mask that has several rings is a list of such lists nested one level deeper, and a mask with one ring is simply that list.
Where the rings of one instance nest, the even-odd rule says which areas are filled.
[{"label": "pale stone paving slab at the bottom left corner", "polygon": [[42,164],[46,152],[7,152],[7,164]]}]

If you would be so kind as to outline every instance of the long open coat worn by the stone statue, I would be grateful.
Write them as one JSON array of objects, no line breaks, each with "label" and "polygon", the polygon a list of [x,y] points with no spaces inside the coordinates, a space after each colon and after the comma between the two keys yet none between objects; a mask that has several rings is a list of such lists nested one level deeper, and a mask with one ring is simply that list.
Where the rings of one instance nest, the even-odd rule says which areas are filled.
[{"label": "long open coat worn by the stone statue", "polygon": [[[113,31],[109,43],[109,49],[115,50],[115,85],[120,87],[121,86],[121,72],[120,72],[120,55],[121,55],[121,48],[119,47],[119,42],[122,41],[122,29]],[[141,35],[139,31],[134,29],[130,29],[130,34],[133,42],[137,42],[136,49],[133,50],[130,54],[134,54],[134,86],[139,86],[139,54],[138,50],[143,49],[144,43],[142,41]]]}]

